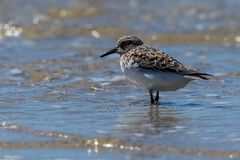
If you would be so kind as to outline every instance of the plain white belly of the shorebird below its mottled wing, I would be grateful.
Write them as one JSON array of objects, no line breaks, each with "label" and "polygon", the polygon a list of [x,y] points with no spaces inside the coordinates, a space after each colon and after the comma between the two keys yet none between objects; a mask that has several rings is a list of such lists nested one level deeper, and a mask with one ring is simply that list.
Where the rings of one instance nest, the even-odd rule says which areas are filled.
[{"label": "plain white belly of the shorebird below its mottled wing", "polygon": [[147,89],[154,91],[175,91],[183,88],[191,78],[169,72],[139,71],[137,69],[123,69],[126,77]]}]

